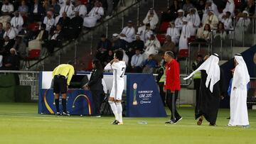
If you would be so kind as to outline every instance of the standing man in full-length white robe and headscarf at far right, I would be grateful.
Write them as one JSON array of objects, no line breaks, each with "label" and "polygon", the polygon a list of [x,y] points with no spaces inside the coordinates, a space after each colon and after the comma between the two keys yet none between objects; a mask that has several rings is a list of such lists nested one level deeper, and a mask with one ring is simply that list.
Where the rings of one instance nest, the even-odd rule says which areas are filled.
[{"label": "standing man in full-length white robe and headscarf at far right", "polygon": [[250,75],[241,54],[235,55],[235,72],[230,95],[230,121],[228,126],[249,126],[247,112],[247,84]]}]

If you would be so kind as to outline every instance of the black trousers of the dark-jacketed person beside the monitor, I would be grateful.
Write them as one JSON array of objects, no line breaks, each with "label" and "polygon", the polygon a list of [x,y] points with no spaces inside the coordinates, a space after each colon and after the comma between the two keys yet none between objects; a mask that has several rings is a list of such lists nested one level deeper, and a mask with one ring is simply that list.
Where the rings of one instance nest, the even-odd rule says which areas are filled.
[{"label": "black trousers of the dark-jacketed person beside the monitor", "polygon": [[104,93],[102,91],[93,90],[92,92],[92,99],[95,104],[95,115],[100,115],[100,106],[104,99]]}]

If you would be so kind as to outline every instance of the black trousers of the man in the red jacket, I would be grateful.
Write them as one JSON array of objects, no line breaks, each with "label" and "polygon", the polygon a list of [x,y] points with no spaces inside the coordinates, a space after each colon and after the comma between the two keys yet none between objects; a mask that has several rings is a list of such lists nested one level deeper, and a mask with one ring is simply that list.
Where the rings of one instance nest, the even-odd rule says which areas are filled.
[{"label": "black trousers of the man in the red jacket", "polygon": [[178,111],[176,109],[176,101],[178,99],[178,91],[175,91],[175,93],[171,93],[171,90],[167,89],[166,90],[166,104],[169,107],[171,111],[171,120],[176,121],[181,116],[178,114]]}]

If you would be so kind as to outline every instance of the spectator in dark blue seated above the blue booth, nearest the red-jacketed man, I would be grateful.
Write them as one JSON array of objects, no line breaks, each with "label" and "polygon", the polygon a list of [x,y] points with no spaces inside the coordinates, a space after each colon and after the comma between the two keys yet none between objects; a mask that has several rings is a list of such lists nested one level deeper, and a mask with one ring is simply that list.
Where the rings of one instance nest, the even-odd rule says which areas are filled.
[{"label": "spectator in dark blue seated above the blue booth, nearest the red-jacketed man", "polygon": [[143,62],[142,73],[153,74],[156,70],[156,61],[153,60],[154,55],[149,55],[149,57]]}]

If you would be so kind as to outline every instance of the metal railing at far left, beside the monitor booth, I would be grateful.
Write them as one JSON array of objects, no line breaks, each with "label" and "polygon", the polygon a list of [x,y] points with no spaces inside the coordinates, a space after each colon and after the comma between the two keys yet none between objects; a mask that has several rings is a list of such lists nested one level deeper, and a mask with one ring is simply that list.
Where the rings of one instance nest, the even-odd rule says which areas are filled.
[{"label": "metal railing at far left, beside the monitor booth", "polygon": [[14,70],[0,70],[4,74],[18,74],[19,85],[31,86],[31,99],[38,96],[38,71],[14,71]]}]

